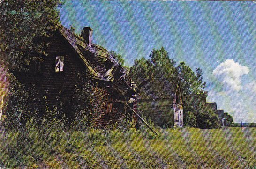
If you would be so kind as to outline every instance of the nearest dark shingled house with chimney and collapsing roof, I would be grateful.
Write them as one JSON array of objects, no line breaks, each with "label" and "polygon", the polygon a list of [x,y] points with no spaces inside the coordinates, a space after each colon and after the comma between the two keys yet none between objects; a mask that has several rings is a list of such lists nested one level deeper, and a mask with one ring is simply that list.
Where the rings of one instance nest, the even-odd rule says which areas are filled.
[{"label": "nearest dark shingled house with chimney and collapsing roof", "polygon": [[92,103],[98,113],[94,125],[105,127],[124,118],[136,121],[127,109],[129,105],[137,110],[135,84],[105,48],[92,43],[92,29],[84,27],[80,37],[60,24],[56,27],[43,62],[35,63],[34,69],[20,74],[19,79],[28,86],[35,84],[42,93],[48,91],[48,103],[54,105],[59,91],[66,99],[72,97],[77,74],[88,70],[98,98]]}]

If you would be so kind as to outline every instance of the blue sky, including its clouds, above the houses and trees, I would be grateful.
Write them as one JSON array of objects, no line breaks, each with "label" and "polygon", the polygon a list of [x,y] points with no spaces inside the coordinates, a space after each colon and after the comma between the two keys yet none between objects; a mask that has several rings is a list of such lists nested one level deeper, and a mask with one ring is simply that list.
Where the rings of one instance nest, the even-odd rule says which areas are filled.
[{"label": "blue sky, including its clouds, above the houses and trees", "polygon": [[177,63],[203,69],[208,102],[236,122],[256,122],[256,2],[65,0],[64,26],[93,29],[93,43],[127,66],[166,48]]}]

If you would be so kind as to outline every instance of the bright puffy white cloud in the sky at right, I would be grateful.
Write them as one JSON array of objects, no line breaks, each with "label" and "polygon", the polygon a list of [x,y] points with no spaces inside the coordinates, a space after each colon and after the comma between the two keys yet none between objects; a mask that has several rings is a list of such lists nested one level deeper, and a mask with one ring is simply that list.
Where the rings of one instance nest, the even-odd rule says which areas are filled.
[{"label": "bright puffy white cloud in the sky at right", "polygon": [[220,63],[212,74],[221,80],[226,89],[241,90],[241,76],[248,74],[249,69],[247,66],[242,66],[233,59],[227,59],[225,62]]}]

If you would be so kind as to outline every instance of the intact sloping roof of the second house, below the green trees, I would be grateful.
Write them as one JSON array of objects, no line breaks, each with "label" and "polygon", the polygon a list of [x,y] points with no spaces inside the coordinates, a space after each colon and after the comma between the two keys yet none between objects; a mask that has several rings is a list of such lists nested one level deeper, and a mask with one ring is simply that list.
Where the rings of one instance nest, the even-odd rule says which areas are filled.
[{"label": "intact sloping roof of the second house, below the green trees", "polygon": [[[140,85],[147,79],[134,79],[136,85]],[[180,83],[178,76],[168,78],[154,78],[151,82],[145,84],[140,88],[139,99],[163,99],[174,98],[177,87]]]}]

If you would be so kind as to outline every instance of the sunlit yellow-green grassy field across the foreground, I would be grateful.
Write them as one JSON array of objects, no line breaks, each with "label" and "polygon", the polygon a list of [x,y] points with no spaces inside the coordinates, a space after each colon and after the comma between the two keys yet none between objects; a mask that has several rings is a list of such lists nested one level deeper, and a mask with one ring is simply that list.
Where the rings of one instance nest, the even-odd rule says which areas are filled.
[{"label": "sunlit yellow-green grassy field across the foreground", "polygon": [[[8,154],[15,136],[0,135],[0,164],[23,168],[83,169],[193,169],[256,167],[256,128],[157,129],[158,136],[128,130],[59,133],[48,148],[31,136],[30,153]],[[15,134],[14,134],[15,135]],[[7,143],[7,140],[8,143]],[[15,140],[15,139],[13,139]],[[15,142],[15,141],[14,141]],[[19,163],[20,162],[20,163]]]}]

